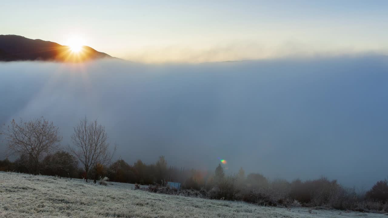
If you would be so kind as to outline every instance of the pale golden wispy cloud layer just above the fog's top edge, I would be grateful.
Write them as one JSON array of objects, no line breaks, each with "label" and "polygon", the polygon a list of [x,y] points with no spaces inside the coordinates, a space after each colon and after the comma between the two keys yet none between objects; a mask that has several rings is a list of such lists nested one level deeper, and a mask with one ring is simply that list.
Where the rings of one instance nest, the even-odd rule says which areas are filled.
[{"label": "pale golden wispy cloud layer just above the fog's top edge", "polygon": [[330,43],[303,43],[286,40],[283,43],[260,43],[256,40],[234,40],[232,42],[212,42],[208,46],[175,44],[166,47],[139,47],[128,49],[129,53],[119,54],[124,59],[143,63],[203,63],[222,61],[242,61],[279,58],[338,57],[340,55],[388,54],[382,46],[333,45]]}]

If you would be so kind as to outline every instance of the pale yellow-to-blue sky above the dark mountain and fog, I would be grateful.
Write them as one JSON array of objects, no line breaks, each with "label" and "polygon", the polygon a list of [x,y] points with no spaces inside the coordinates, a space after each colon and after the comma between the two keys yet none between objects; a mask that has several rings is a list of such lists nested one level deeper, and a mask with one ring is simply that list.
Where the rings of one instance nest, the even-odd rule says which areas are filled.
[{"label": "pale yellow-to-blue sky above the dark mountain and fog", "polygon": [[85,45],[140,62],[388,51],[388,2],[0,1],[0,34]]}]

